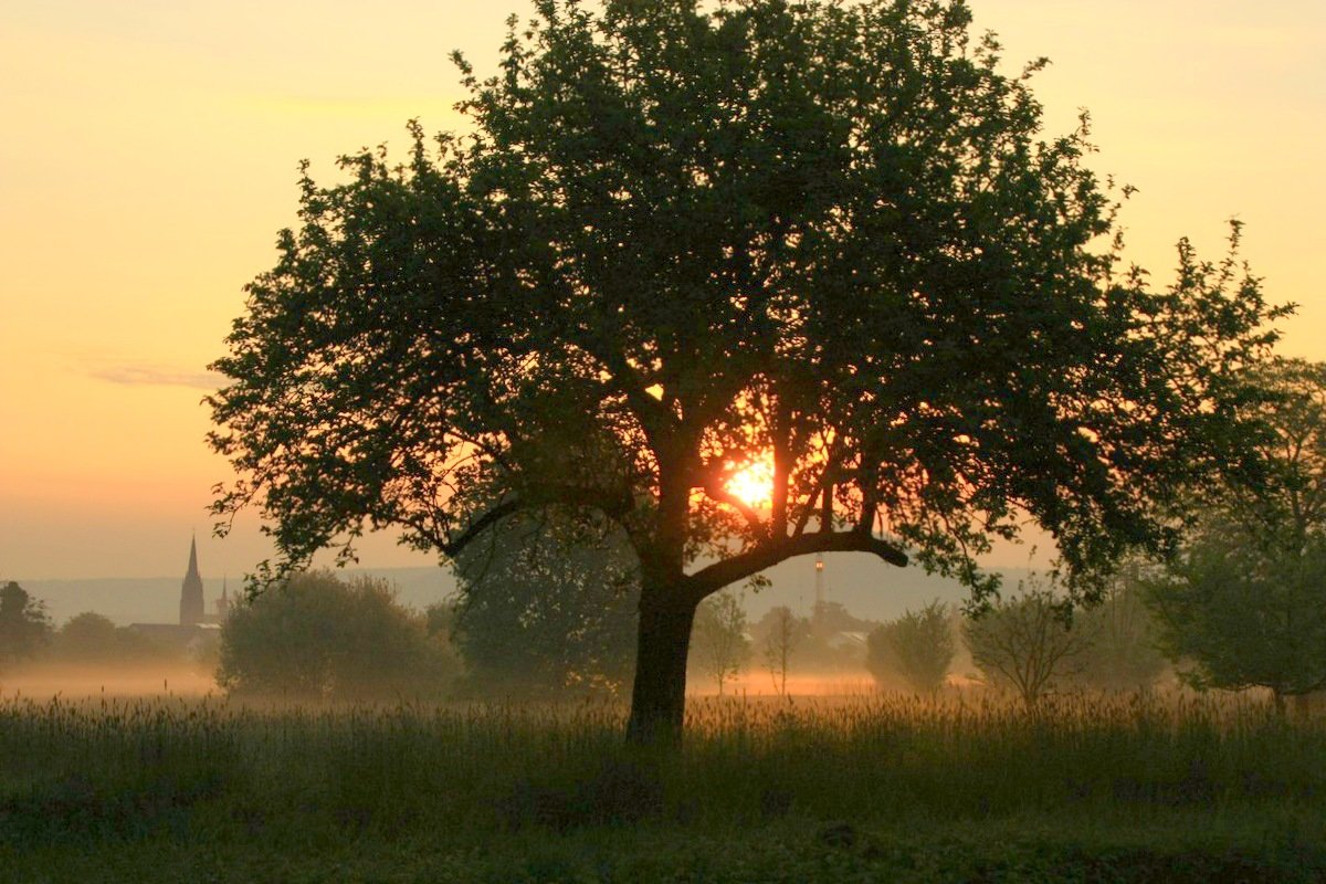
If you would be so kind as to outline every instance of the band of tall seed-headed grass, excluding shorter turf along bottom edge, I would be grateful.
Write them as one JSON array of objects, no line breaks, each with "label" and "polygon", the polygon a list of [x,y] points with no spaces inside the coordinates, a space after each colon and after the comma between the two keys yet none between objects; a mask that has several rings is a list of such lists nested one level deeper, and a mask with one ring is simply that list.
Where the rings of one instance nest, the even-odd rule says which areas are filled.
[{"label": "band of tall seed-headed grass, excluding shorter turf along bottom edge", "polygon": [[349,831],[463,840],[642,818],[1109,819],[1268,802],[1326,810],[1326,728],[1238,698],[699,698],[679,755],[627,749],[625,709],[0,700],[0,842]]}]

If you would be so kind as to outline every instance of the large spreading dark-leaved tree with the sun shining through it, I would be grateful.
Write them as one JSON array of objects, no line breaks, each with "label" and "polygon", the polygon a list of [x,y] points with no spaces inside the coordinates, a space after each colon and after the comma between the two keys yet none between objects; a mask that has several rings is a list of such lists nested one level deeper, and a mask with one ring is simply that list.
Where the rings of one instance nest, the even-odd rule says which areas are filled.
[{"label": "large spreading dark-leaved tree with the sun shining through it", "polygon": [[[679,736],[699,602],[789,557],[972,565],[1032,520],[1073,574],[1159,545],[1237,457],[1273,311],[1180,248],[1119,264],[1082,130],[1044,140],[961,0],[538,0],[472,129],[305,172],[215,367],[213,447],[276,574],[398,526],[455,555],[594,510],[639,559],[629,730]],[[772,464],[769,502],[728,488]]]}]

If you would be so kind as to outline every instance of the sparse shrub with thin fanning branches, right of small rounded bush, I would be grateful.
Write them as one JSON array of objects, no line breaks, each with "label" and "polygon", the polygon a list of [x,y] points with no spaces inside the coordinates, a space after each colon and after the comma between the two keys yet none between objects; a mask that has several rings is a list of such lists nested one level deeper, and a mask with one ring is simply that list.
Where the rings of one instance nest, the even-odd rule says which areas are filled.
[{"label": "sparse shrub with thin fanning branches, right of small rounded bush", "polygon": [[1078,669],[1078,657],[1090,644],[1087,630],[1070,624],[1062,603],[1037,583],[965,620],[963,637],[981,673],[1016,691],[1028,710],[1036,709],[1055,680]]}]

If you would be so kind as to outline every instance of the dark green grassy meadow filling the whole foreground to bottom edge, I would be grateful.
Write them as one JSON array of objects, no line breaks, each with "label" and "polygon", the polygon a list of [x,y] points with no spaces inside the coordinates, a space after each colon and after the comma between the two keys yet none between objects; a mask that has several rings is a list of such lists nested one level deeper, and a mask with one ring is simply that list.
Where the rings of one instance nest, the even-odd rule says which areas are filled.
[{"label": "dark green grassy meadow filling the whole foreground to bottom edge", "polygon": [[1208,698],[0,704],[0,877],[1318,880],[1326,728]]}]

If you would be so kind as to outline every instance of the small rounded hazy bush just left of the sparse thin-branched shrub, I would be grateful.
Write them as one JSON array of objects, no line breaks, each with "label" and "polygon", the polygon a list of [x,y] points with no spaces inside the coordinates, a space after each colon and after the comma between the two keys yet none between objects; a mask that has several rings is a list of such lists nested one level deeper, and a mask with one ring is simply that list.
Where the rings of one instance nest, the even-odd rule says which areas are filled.
[{"label": "small rounded hazy bush just left of the sparse thin-branched shrub", "polygon": [[912,691],[932,693],[943,687],[956,652],[948,607],[935,599],[873,630],[866,637],[866,668],[879,683],[898,676]]}]

